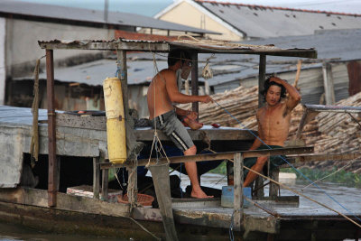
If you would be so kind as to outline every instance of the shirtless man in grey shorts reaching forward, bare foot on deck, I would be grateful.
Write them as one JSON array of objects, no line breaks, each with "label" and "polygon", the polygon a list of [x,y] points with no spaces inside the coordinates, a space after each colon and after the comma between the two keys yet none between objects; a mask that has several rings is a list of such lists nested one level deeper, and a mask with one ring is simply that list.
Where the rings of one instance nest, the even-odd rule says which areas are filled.
[{"label": "shirtless man in grey shorts reaching forward, bare foot on deck", "polygon": [[[188,96],[180,93],[177,86],[177,70],[189,75],[191,69],[190,54],[186,51],[172,50],[168,55],[168,69],[160,71],[153,77],[152,83],[148,88],[147,101],[149,109],[149,118],[152,125],[171,138],[171,141],[183,151],[184,155],[194,155],[197,148],[190,139],[185,127],[180,123],[176,115],[189,116],[197,118],[197,113],[190,110],[183,110],[173,107],[172,103],[192,103],[212,101],[209,96]],[[188,76],[182,76],[187,79]],[[196,162],[184,163],[192,190],[192,198],[204,199],[212,198],[201,190],[198,180]]]}]

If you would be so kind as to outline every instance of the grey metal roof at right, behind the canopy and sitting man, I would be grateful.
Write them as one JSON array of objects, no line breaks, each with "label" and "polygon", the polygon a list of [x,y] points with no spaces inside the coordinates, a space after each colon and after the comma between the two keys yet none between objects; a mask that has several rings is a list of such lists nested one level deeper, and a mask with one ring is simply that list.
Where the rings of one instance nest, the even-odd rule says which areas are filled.
[{"label": "grey metal roof at right, behind the canopy and sitting man", "polygon": [[[304,62],[302,69],[319,68],[322,65],[322,60],[333,61],[348,61],[348,60],[361,60],[361,29],[354,30],[332,30],[332,31],[318,31],[315,34],[304,36],[289,36],[269,38],[265,40],[247,41],[244,43],[249,44],[274,44],[281,48],[290,48],[296,46],[311,46],[318,51],[319,61],[310,61],[311,63]],[[200,55],[199,60],[206,60],[209,55]],[[215,76],[213,79],[208,79],[210,86],[218,84],[225,84],[236,79],[246,79],[258,75],[258,61],[259,59],[252,55],[226,55],[217,54],[217,65],[227,64],[232,62],[234,64],[242,65],[240,72],[230,73],[225,75]],[[296,61],[299,58],[285,58],[278,56],[267,56],[266,72],[280,73],[296,69]],[[292,62],[293,61],[293,62]]]}]

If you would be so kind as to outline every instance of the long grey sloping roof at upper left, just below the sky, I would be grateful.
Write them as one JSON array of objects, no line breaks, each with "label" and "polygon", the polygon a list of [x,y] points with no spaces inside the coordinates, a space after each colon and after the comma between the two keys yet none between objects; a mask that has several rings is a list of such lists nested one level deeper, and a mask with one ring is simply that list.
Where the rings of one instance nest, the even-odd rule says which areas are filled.
[{"label": "long grey sloping roof at upper left, just below the sky", "polygon": [[32,17],[68,20],[74,22],[104,23],[117,26],[132,26],[180,32],[218,34],[218,32],[209,32],[207,30],[193,28],[178,23],[170,23],[139,14],[108,12],[108,21],[105,22],[103,11],[59,5],[42,5],[27,2],[17,2],[14,0],[1,0],[0,13],[20,14]]}]

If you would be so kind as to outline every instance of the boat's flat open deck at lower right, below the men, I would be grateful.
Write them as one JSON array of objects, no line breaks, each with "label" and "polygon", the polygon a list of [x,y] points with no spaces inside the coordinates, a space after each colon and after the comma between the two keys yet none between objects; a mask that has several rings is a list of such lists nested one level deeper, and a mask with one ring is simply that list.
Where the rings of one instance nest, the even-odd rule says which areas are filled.
[{"label": "boat's flat open deck at lower right, below the men", "polygon": [[[300,191],[303,186],[298,184],[293,185],[292,188]],[[357,220],[357,218],[361,218],[361,192],[358,189],[342,188],[329,183],[319,184],[319,188],[320,190],[310,187],[302,193],[360,223]],[[323,190],[327,191],[348,211],[329,199]],[[281,190],[282,197],[292,195],[294,193],[289,190]],[[264,209],[276,214],[277,217],[253,205],[245,208],[245,231],[250,232],[248,238],[251,240],[255,235],[252,232],[257,231],[272,234],[274,240],[343,240],[345,238],[355,239],[356,236],[360,236],[361,229],[359,227],[309,199],[300,197],[300,204],[294,207],[287,207],[284,203],[277,201],[255,199],[254,201]],[[220,207],[219,199],[208,200],[208,203],[194,199],[188,199],[188,201],[175,199],[173,200],[173,209],[175,219],[180,223],[225,228],[230,227],[234,212],[234,209]]]}]

